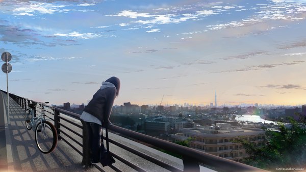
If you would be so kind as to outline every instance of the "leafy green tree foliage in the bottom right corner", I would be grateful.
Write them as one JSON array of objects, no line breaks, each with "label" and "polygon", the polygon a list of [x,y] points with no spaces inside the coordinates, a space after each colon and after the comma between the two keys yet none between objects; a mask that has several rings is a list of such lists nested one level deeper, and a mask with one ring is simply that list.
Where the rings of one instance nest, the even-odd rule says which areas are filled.
[{"label": "leafy green tree foliage in the bottom right corner", "polygon": [[263,169],[275,170],[276,167],[304,167],[306,162],[305,122],[290,118],[291,127],[280,124],[279,131],[266,130],[265,144],[256,147],[245,138],[239,138],[246,149],[248,158],[243,163]]}]

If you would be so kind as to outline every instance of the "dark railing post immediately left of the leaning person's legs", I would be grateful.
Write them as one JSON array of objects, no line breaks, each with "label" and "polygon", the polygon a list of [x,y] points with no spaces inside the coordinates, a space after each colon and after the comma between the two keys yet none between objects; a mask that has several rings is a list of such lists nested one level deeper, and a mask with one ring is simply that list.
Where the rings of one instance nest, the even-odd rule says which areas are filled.
[{"label": "dark railing post immediately left of the leaning person's legs", "polygon": [[89,135],[88,135],[88,125],[87,123],[81,119],[83,125],[83,158],[82,158],[82,165],[85,168],[91,167],[92,164],[90,163],[90,149],[89,149]]}]

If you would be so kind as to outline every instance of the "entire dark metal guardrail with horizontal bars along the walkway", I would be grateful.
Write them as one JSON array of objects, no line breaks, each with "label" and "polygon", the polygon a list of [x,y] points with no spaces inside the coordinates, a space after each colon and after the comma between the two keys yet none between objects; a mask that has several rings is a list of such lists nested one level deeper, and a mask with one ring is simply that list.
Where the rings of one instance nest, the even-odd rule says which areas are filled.
[{"label": "entire dark metal guardrail with horizontal bars along the walkway", "polygon": [[[1,90],[2,91],[2,90]],[[5,92],[5,91],[3,91]],[[5,92],[6,93],[6,92]],[[12,97],[12,99],[14,101],[16,101],[22,108],[27,108],[29,105],[29,101],[28,99],[24,99],[23,97],[14,95],[10,93],[10,96]],[[34,102],[34,101],[32,101]],[[89,153],[89,140],[88,140],[88,130],[86,126],[86,122],[84,122],[83,120],[81,120],[82,126],[77,124],[77,122],[74,122],[71,119],[68,119],[66,117],[64,117],[63,115],[60,114],[64,114],[67,116],[70,116],[72,118],[74,118],[75,120],[80,120],[80,116],[79,114],[70,112],[70,111],[66,111],[63,109],[60,109],[58,107],[55,107],[55,113],[54,113],[54,118],[52,120],[54,120],[54,125],[57,129],[58,132],[58,138],[59,140],[62,140],[64,142],[66,142],[69,146],[71,146],[72,149],[74,149],[75,151],[77,151],[82,157],[82,165],[84,165],[85,167],[90,167],[92,166],[92,164],[90,163],[90,153]],[[76,126],[80,129],[82,129],[82,134],[71,130],[69,127],[67,127],[64,123],[68,122],[66,124],[69,125],[73,125]],[[70,134],[68,134],[66,131],[63,130],[63,128],[65,128],[66,130],[68,130],[70,132]],[[148,135],[144,135],[141,133],[137,133],[131,130],[127,130],[118,126],[114,126],[114,125],[108,125],[108,129],[116,132],[116,133],[120,133],[122,135],[125,135],[127,137],[131,137],[133,139],[136,140],[140,140],[143,141],[145,143],[151,144],[156,146],[157,148],[166,150],[166,151],[170,151],[176,154],[179,154],[183,157],[183,165],[184,165],[184,169],[179,169],[177,167],[174,167],[172,165],[169,165],[161,160],[158,160],[154,157],[151,157],[149,155],[146,155],[142,152],[139,152],[133,148],[130,148],[129,146],[126,146],[122,143],[119,143],[115,140],[109,139],[110,143],[113,143],[114,145],[119,146],[120,148],[129,151],[141,158],[144,158],[152,163],[155,163],[169,171],[192,171],[192,172],[196,172],[199,171],[199,164],[205,164],[205,165],[209,165],[211,167],[213,167],[216,170],[220,170],[220,171],[265,171],[263,169],[260,168],[256,168],[253,166],[249,166],[243,163],[239,163],[236,161],[232,161],[232,160],[228,160],[226,158],[222,158],[222,157],[218,157],[218,156],[214,156],[205,152],[201,152],[198,150],[194,150],[191,148],[187,148],[185,146],[182,145],[178,145],[169,141],[165,141],[162,139],[158,139],[155,137],[151,137]],[[74,134],[75,136],[78,136],[77,138],[74,136],[71,136],[71,134]],[[79,138],[79,139],[78,139]],[[80,141],[80,139],[82,141]],[[72,140],[73,143],[71,143]],[[81,146],[82,147],[82,152],[77,148],[77,146]],[[133,164],[132,162],[126,161],[124,158],[120,157],[119,155],[116,155],[114,153],[112,153],[112,156],[116,159],[118,159],[119,161],[123,162],[124,164],[130,166],[131,168],[134,168],[137,171],[146,171],[144,169],[142,169],[141,167],[139,167],[136,164]],[[96,168],[98,168],[100,171],[104,171],[104,169],[102,169],[100,166],[94,164],[94,166]],[[111,168],[113,168],[115,171],[121,171],[120,169],[116,168],[115,166],[111,165]]]}]

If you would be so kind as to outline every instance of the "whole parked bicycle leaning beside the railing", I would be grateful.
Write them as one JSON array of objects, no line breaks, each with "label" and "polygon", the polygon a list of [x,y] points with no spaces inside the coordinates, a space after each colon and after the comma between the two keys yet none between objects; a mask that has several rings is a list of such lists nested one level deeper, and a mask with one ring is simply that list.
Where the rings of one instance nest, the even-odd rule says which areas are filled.
[{"label": "whole parked bicycle leaning beside the railing", "polygon": [[[35,142],[40,152],[49,154],[57,146],[58,135],[54,125],[45,118],[45,109],[54,110],[45,106],[45,103],[29,103],[29,108],[24,111],[25,126],[28,130],[35,128]],[[40,114],[36,116],[36,107],[40,108]],[[49,112],[50,113],[50,112]]]}]

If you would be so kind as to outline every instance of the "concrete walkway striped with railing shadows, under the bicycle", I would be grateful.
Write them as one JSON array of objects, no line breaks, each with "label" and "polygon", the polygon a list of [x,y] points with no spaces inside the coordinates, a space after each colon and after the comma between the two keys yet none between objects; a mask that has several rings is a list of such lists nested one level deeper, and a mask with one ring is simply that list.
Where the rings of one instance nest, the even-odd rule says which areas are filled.
[{"label": "concrete walkway striped with railing shadows, under the bicycle", "polygon": [[0,92],[0,116],[5,124],[0,126],[0,171],[98,171],[84,169],[82,156],[65,142],[58,141],[56,150],[42,154],[35,143],[34,131],[24,124],[24,109],[10,99],[10,124],[7,124],[7,94]]}]

